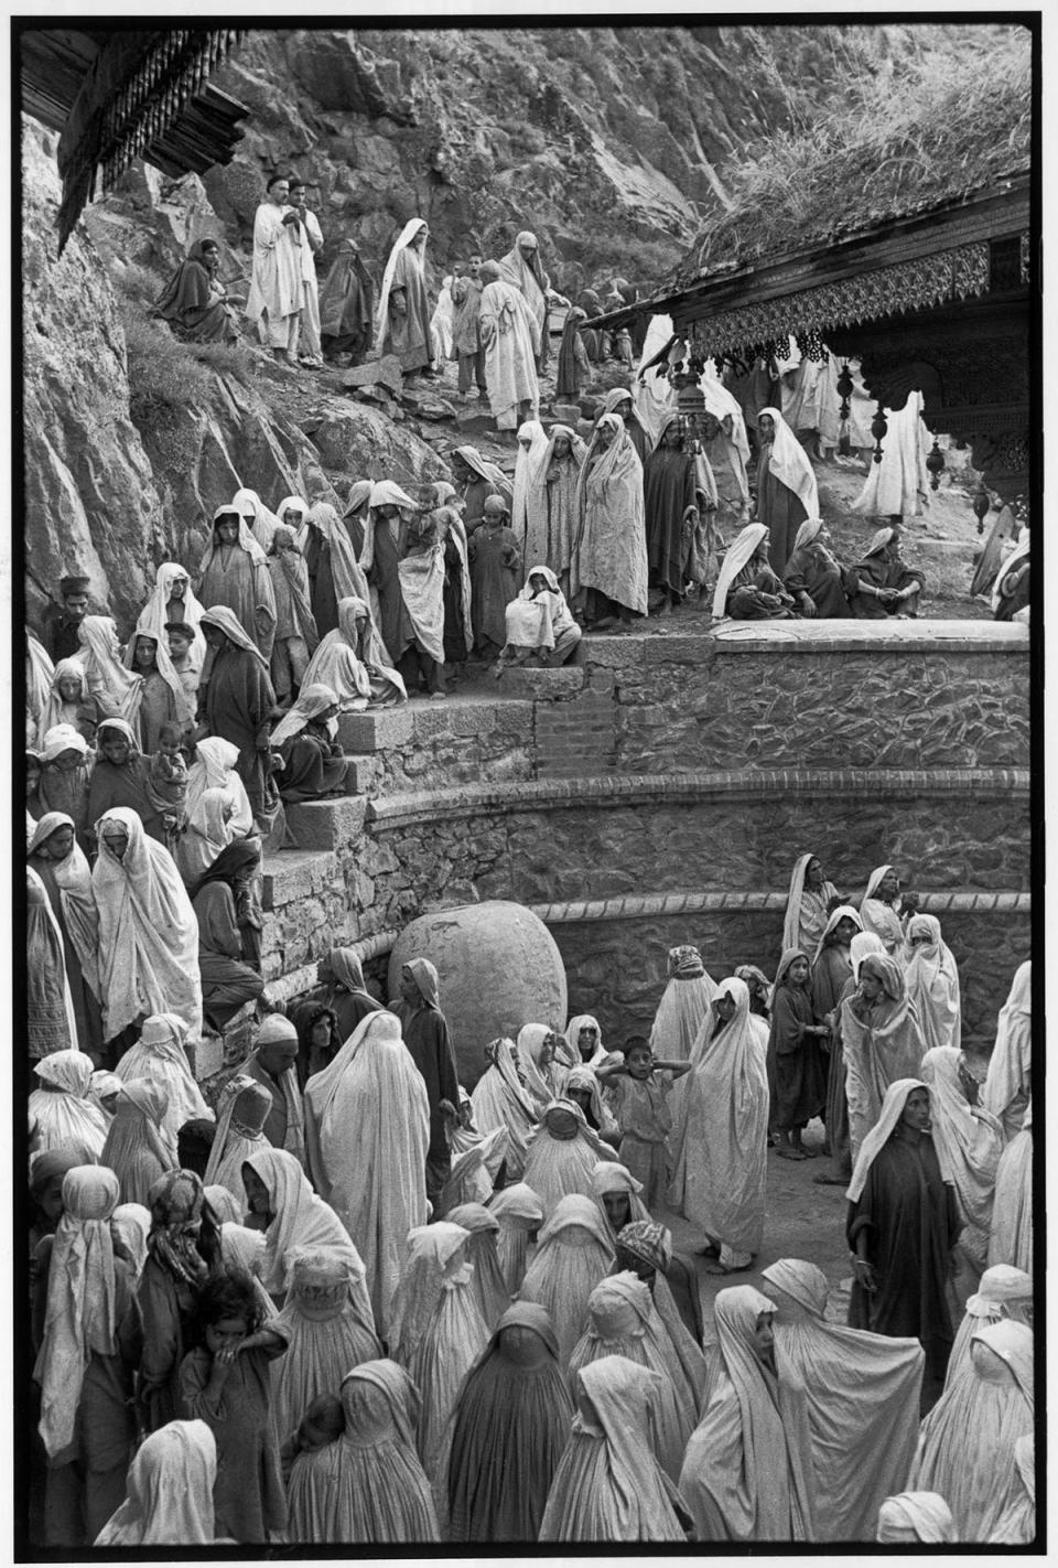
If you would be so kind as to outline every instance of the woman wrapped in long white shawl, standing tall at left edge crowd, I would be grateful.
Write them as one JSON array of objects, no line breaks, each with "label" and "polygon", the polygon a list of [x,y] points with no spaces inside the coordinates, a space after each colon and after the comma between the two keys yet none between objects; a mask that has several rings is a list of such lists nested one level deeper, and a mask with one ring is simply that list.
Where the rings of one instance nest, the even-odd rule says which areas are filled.
[{"label": "woman wrapped in long white shawl, standing tall at left edge crowd", "polygon": [[144,1014],[177,1013],[190,1038],[202,1032],[199,925],[172,856],[127,806],[96,823],[99,859],[99,983],[103,1036]]}]

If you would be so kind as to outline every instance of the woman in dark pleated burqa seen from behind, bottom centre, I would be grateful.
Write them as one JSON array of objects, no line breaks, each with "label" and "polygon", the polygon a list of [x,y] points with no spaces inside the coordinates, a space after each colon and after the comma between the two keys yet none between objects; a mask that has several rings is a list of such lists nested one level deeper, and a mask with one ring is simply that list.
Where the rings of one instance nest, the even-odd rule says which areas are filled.
[{"label": "woman in dark pleated burqa seen from behind, bottom centre", "polygon": [[448,1458],[453,1541],[534,1541],[574,1406],[550,1317],[508,1308],[467,1372]]}]

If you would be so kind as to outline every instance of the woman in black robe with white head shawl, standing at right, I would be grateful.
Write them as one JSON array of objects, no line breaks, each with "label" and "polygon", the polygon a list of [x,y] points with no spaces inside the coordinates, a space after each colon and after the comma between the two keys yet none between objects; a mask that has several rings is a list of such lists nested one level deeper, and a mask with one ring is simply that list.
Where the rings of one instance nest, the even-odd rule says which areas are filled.
[{"label": "woman in black robe with white head shawl, standing at right", "polygon": [[890,1083],[856,1160],[845,1226],[856,1254],[848,1327],[922,1344],[923,1414],[940,1396],[951,1355],[947,1284],[962,1228],[931,1126],[926,1085]]}]

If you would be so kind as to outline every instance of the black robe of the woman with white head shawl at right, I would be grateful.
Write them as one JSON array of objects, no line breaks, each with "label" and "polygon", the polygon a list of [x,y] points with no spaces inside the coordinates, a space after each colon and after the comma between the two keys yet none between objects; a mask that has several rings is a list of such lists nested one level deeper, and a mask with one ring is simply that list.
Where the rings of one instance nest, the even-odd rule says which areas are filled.
[{"label": "black robe of the woman with white head shawl at right", "polygon": [[878,1289],[853,1284],[850,1328],[868,1328],[892,1339],[919,1339],[926,1352],[923,1410],[944,1386],[951,1355],[948,1254],[961,1221],[955,1189],[940,1176],[931,1138],[917,1143],[892,1137],[867,1173],[867,1184],[848,1206],[846,1237],[868,1231],[867,1258]]}]

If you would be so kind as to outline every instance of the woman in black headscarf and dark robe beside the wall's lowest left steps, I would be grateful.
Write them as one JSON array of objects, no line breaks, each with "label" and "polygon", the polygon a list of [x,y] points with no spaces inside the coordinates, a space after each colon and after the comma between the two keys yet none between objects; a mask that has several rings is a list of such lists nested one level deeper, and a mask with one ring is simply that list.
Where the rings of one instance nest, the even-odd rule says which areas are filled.
[{"label": "woman in black headscarf and dark robe beside the wall's lowest left steps", "polygon": [[262,914],[254,897],[260,848],[237,839],[216,856],[191,894],[199,922],[202,1011],[221,1032],[246,1004],[262,996]]}]

